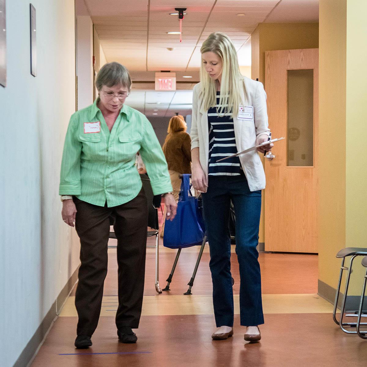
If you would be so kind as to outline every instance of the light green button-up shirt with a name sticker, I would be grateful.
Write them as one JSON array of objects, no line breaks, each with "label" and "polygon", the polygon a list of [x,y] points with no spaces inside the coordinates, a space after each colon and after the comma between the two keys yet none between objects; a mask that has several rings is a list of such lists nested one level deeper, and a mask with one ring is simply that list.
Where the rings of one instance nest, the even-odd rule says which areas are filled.
[{"label": "light green button-up shirt with a name sticker", "polygon": [[171,192],[166,159],[148,119],[124,105],[110,132],[97,101],[70,119],[59,195],[75,195],[98,206],[105,206],[106,201],[108,207],[127,203],[142,187],[134,166],[138,151],[154,195]]}]

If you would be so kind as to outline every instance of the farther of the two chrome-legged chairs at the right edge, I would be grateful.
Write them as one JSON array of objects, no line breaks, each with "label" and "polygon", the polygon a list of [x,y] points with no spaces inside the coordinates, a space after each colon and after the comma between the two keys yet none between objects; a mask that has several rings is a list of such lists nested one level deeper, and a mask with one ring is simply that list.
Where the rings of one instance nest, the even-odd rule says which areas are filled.
[{"label": "farther of the two chrome-legged chairs at the right edge", "polygon": [[[354,259],[357,256],[366,256],[366,255],[367,255],[367,248],[346,247],[346,248],[343,248],[342,250],[340,250],[337,253],[337,256],[336,256],[337,258],[342,259],[342,264],[341,264],[341,267],[340,267],[340,274],[339,274],[337,292],[335,294],[333,320],[335,321],[335,323],[337,325],[340,326],[340,328],[344,331],[344,333],[347,333],[347,334],[357,334],[357,331],[349,331],[349,330],[345,329],[345,326],[356,327],[357,323],[344,323],[343,322],[343,317],[344,317],[344,313],[345,313],[345,303],[346,303],[346,298],[347,298],[347,295],[348,295],[350,274],[352,273],[352,265],[353,265]],[[345,262],[345,258],[348,257],[348,256],[351,256],[351,258],[350,258],[350,262],[349,262],[349,267],[347,268],[346,266],[344,266],[344,262]],[[341,305],[341,310],[340,310],[340,319],[338,321],[337,318],[336,318],[336,313],[337,313],[337,307],[338,307],[339,292],[340,292],[340,287],[341,287],[343,270],[348,270],[348,273],[347,273],[346,281],[345,281],[345,291],[344,291],[344,296],[343,296],[343,299],[342,299],[342,305]],[[360,325],[367,325],[367,323],[360,323]]]}]

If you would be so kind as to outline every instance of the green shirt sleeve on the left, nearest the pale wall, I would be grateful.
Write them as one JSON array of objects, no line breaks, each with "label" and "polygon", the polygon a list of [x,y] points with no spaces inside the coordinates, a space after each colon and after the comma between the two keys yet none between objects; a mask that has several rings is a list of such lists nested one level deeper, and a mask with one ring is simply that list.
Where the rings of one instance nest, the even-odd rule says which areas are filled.
[{"label": "green shirt sleeve on the left, nearest the pale wall", "polygon": [[[74,116],[74,115],[73,115]],[[77,139],[76,123],[70,119],[62,153],[59,195],[80,195],[80,152],[81,142]]]}]

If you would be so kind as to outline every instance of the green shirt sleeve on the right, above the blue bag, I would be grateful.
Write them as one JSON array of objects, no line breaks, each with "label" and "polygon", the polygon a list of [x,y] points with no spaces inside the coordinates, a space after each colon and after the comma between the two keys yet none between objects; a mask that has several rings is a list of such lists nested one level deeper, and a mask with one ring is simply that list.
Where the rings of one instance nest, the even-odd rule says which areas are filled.
[{"label": "green shirt sleeve on the right, above the blue bag", "polygon": [[163,150],[159,144],[152,125],[144,117],[143,139],[139,150],[150,179],[153,194],[160,195],[172,191],[170,174]]}]

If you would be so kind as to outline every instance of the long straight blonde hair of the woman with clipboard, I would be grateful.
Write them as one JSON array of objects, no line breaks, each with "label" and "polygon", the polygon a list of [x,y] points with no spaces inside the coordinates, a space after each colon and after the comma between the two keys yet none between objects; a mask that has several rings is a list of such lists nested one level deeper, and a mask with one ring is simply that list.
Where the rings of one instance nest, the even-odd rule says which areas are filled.
[{"label": "long straight blonde hair of the woman with clipboard", "polygon": [[[218,112],[231,112],[233,118],[237,115],[240,104],[244,105],[241,98],[241,91],[244,88],[243,76],[240,73],[235,45],[226,34],[214,32],[203,42],[200,52],[201,54],[214,52],[221,58],[223,65]],[[206,72],[203,62],[200,66],[200,81],[204,109],[208,110],[217,104],[217,87],[215,81]]]}]

